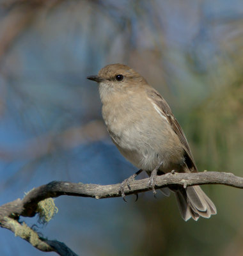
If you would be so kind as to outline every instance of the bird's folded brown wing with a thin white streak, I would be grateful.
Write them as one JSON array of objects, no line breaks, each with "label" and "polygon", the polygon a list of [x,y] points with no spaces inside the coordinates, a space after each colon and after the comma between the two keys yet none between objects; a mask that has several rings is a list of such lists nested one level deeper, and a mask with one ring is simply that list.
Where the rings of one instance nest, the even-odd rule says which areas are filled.
[{"label": "bird's folded brown wing with a thin white streak", "polygon": [[196,163],[194,161],[194,158],[192,156],[191,149],[189,148],[187,139],[185,138],[184,131],[182,131],[182,127],[180,127],[180,124],[177,122],[175,116],[173,115],[171,109],[169,108],[168,103],[164,98],[157,92],[156,90],[151,90],[148,92],[150,99],[152,102],[154,102],[157,105],[157,110],[161,112],[161,115],[167,118],[169,124],[171,125],[172,129],[175,131],[177,136],[180,139],[180,142],[184,146],[185,150],[185,163],[187,164],[189,170],[197,171]]}]

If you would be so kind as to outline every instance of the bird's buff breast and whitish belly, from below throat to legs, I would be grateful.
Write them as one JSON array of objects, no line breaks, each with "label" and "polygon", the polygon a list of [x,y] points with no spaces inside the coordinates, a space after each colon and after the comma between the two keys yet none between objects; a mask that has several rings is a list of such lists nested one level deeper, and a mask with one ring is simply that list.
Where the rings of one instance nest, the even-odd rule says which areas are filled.
[{"label": "bird's buff breast and whitish belly, from below throat to legs", "polygon": [[181,161],[183,148],[169,123],[149,100],[134,101],[116,100],[102,106],[107,130],[121,154],[144,170],[153,170],[163,159]]}]

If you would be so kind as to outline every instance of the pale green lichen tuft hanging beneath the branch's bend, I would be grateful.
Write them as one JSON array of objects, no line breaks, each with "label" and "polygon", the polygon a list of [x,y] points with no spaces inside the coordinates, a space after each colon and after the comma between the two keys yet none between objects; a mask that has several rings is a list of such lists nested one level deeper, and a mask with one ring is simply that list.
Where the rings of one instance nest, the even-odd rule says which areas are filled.
[{"label": "pale green lichen tuft hanging beneath the branch's bend", "polygon": [[56,207],[52,198],[47,198],[38,202],[36,211],[39,215],[38,222],[46,224],[54,217],[55,214],[58,213],[58,207]]}]

